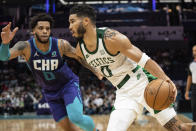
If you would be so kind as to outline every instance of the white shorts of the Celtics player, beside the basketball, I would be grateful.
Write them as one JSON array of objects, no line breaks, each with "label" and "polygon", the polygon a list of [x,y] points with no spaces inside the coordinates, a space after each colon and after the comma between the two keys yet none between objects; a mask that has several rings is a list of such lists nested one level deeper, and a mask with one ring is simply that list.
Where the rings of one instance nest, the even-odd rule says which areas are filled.
[{"label": "white shorts of the Celtics player, beside the basketball", "polygon": [[[140,74],[139,79],[137,77],[138,74]],[[168,107],[157,114],[154,113],[154,110],[147,105],[144,99],[144,90],[148,83],[148,78],[141,68],[136,73],[131,73],[130,79],[116,91],[114,108],[116,110],[131,109],[139,116],[145,107],[161,125],[165,125],[170,119],[176,116],[176,112],[172,107]]]}]

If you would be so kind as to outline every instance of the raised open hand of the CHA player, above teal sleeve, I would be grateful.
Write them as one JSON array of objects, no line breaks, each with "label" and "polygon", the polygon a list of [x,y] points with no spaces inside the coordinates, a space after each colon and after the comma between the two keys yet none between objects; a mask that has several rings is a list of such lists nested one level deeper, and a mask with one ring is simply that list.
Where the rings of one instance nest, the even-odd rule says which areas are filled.
[{"label": "raised open hand of the CHA player, above teal sleeve", "polygon": [[1,39],[3,44],[9,44],[10,41],[14,38],[16,32],[18,31],[18,27],[14,28],[13,31],[10,30],[11,22],[6,25],[1,31]]}]

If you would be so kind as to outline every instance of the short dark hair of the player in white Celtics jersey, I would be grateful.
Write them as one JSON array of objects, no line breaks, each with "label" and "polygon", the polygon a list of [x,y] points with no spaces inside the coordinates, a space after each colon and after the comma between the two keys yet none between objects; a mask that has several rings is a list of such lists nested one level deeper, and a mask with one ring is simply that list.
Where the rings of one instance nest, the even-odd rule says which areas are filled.
[{"label": "short dark hair of the player in white Celtics jersey", "polygon": [[93,24],[96,24],[96,11],[89,5],[75,5],[70,9],[71,14],[76,14],[78,17],[88,17]]}]

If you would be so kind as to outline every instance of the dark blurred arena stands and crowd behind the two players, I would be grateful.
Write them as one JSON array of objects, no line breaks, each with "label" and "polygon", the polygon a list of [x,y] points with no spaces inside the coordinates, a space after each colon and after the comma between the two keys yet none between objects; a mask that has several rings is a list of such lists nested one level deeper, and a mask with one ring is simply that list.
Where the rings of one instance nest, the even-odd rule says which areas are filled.
[{"label": "dark blurred arena stands and crowd behind the two players", "polygon": [[[12,21],[13,27],[18,26],[20,30],[28,30],[31,16],[45,11],[54,17],[54,28],[68,28],[69,9],[74,4],[78,4],[77,2],[67,2],[66,4],[65,1],[62,4],[62,1],[53,0],[53,2],[49,2],[51,8],[48,9],[45,1],[37,0],[32,3],[30,1],[23,3],[23,6],[20,1],[0,1],[0,29]],[[121,1],[114,0],[110,4],[103,4],[104,1],[99,1],[99,4],[92,4],[92,6],[97,10],[98,27],[161,26],[162,29],[172,26],[183,27],[180,41],[171,41],[167,38],[163,41],[145,41],[145,39],[132,41],[132,38],[130,40],[154,59],[176,84],[178,89],[176,110],[190,112],[190,101],[185,101],[184,91],[187,78],[186,69],[192,60],[191,48],[196,44],[196,1],[176,0],[177,2],[161,3],[164,0],[156,0],[156,8],[153,1],[129,0],[126,1],[127,3],[121,3]],[[166,35],[170,35],[167,33]],[[30,35],[30,31],[24,34],[23,40],[30,38]],[[146,34],[142,35],[145,37]],[[66,39],[66,36],[59,35],[58,37]],[[16,34],[10,46],[12,47],[18,40],[21,40],[21,36]],[[70,41],[70,43],[73,46],[76,45],[74,41]],[[80,77],[84,113],[110,113],[115,100],[115,87],[106,79],[98,80],[75,60],[65,58],[65,61]],[[9,62],[0,61],[0,115],[5,113],[22,115],[25,112],[35,112],[39,107],[38,103],[43,99],[41,88],[34,81],[25,63],[18,62],[17,58]]]}]

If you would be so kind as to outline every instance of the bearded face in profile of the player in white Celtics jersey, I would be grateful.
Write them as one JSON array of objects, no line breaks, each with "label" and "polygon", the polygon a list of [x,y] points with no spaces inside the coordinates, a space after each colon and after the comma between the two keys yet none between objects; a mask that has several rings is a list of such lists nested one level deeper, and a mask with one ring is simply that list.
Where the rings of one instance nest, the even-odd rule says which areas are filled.
[{"label": "bearded face in profile of the player in white Celtics jersey", "polygon": [[86,29],[83,26],[83,19],[78,17],[76,14],[71,14],[69,16],[69,30],[73,37],[82,39],[86,32]]}]

